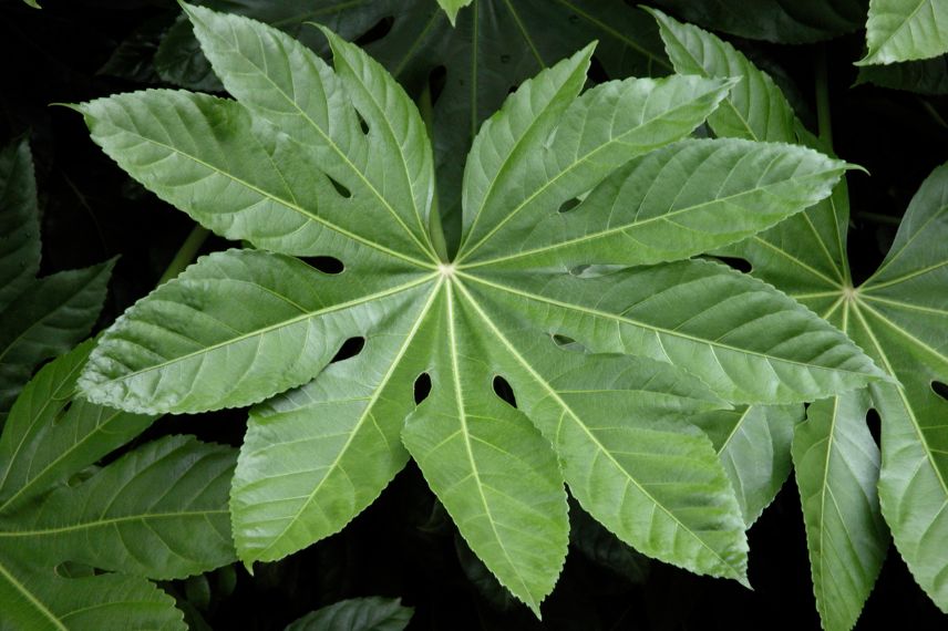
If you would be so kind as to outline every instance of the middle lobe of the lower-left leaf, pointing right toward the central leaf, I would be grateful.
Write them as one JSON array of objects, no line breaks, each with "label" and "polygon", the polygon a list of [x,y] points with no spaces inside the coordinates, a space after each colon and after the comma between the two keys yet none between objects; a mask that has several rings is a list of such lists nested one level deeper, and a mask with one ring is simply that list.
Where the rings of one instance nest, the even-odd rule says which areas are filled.
[{"label": "middle lobe of the lower-left leaf, pointing right toward the central leaf", "polygon": [[[138,447],[78,487],[0,517],[0,546],[31,562],[72,561],[157,579],[234,560],[226,498],[234,452],[192,437]],[[155,493],[161,489],[161,493]]]}]

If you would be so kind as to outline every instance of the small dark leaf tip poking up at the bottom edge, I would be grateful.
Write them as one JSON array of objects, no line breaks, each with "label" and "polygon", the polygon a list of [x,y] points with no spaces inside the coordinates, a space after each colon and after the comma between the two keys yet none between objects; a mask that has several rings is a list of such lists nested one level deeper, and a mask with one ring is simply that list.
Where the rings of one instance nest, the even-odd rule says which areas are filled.
[{"label": "small dark leaf tip poking up at the bottom edge", "polygon": [[307,613],[286,631],[402,631],[412,613],[398,598],[350,598]]}]

